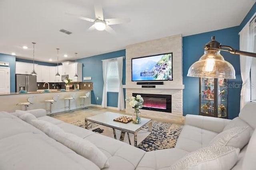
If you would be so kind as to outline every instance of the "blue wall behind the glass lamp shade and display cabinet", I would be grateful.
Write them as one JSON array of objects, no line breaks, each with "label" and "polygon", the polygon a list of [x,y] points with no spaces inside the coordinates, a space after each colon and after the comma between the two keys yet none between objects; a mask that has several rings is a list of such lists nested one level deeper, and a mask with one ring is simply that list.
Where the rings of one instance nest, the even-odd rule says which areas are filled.
[{"label": "blue wall behind the glass lamp shade and display cabinet", "polygon": [[[199,113],[199,78],[188,77],[188,68],[204,54],[203,46],[215,35],[216,41],[222,45],[229,45],[234,49],[239,49],[240,27],[220,29],[182,38],[183,41],[183,115]],[[222,56],[231,63],[236,70],[236,79],[230,79],[232,87],[228,89],[228,118],[233,119],[238,116],[240,111],[240,91],[242,79],[240,75],[240,57],[222,51]]]}]

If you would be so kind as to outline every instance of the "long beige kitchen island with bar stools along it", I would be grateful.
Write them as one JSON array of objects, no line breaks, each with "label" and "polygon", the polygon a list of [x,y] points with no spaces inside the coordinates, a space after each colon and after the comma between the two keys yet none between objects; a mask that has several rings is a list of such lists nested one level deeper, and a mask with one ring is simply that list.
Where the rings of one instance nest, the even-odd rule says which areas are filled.
[{"label": "long beige kitchen island with bar stools along it", "polygon": [[[57,113],[60,111],[67,111],[68,101],[64,98],[69,98],[72,94],[75,95],[75,99],[71,100],[71,109],[78,109],[83,107],[83,99],[80,96],[85,96],[87,92],[91,93],[91,90],[68,90],[60,91],[56,89],[50,89],[50,92],[43,92],[43,90],[37,92],[27,92],[27,93],[0,93],[0,108],[1,111],[14,112],[16,109],[24,110],[24,106],[16,106],[17,103],[27,102],[27,98],[36,96],[34,98],[34,104],[30,104],[28,110],[31,109],[49,109],[49,103],[44,102],[44,100],[51,100],[53,96],[59,95],[58,102],[54,102],[52,105],[52,113]],[[91,98],[86,98],[85,106],[91,105]]]}]

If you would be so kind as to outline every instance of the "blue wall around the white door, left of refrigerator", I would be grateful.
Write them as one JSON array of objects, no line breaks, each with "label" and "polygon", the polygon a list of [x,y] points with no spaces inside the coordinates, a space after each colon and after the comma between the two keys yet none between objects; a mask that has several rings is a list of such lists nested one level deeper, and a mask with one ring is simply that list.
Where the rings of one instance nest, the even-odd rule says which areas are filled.
[{"label": "blue wall around the white door, left of refrigerator", "polygon": [[8,62],[10,67],[10,92],[15,92],[15,63],[16,57],[13,55],[0,54],[0,61]]}]

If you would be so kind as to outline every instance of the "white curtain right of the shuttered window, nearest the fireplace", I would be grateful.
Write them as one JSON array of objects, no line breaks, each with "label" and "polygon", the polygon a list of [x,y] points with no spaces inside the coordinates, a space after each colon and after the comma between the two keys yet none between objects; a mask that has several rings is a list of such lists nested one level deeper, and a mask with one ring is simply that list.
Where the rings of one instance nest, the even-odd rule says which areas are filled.
[{"label": "white curtain right of the shuttered window, nearest the fireplace", "polygon": [[118,104],[117,109],[123,110],[124,109],[124,91],[123,91],[123,57],[117,58],[118,64],[118,78],[119,78],[119,89],[118,89]]}]

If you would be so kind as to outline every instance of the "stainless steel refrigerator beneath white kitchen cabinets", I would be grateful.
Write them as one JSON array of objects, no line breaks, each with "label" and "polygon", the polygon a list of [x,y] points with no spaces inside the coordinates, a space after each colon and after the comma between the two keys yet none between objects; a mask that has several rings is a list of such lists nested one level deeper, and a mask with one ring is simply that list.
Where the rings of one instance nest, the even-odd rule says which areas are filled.
[{"label": "stainless steel refrigerator beneath white kitchen cabinets", "polygon": [[36,92],[36,76],[16,74],[16,92],[19,92],[20,90]]}]

